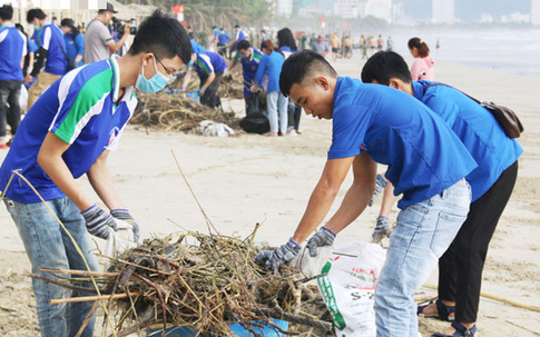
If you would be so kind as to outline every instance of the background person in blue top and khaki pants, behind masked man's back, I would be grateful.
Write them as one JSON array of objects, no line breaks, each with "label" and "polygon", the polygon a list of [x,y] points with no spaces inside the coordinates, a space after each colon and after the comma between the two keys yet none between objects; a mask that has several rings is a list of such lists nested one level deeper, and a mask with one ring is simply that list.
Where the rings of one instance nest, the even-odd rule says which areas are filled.
[{"label": "background person in blue top and khaki pants, behind masked man's back", "polygon": [[24,78],[27,83],[36,78],[36,82],[28,90],[27,109],[30,109],[39,96],[66,73],[68,61],[62,52],[62,49],[66,50],[62,31],[47,19],[47,14],[41,9],[29,10],[27,21],[33,24],[36,40],[39,46],[39,57],[33,70]]}]

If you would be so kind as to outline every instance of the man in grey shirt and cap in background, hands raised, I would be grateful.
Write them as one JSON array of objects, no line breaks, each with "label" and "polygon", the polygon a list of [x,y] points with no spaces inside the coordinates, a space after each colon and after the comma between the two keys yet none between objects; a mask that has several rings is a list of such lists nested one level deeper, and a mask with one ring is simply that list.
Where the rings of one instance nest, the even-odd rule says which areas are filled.
[{"label": "man in grey shirt and cap in background, hands raised", "polygon": [[88,23],[85,34],[86,65],[108,59],[126,43],[129,37],[129,24],[124,26],[124,34],[117,42],[107,28],[115,13],[117,13],[115,7],[107,2],[107,8],[98,10],[96,19]]}]

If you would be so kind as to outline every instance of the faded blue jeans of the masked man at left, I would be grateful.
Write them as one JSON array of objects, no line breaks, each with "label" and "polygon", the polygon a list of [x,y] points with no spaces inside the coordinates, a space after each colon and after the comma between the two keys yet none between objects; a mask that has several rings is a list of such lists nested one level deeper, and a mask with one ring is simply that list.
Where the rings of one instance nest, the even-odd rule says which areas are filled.
[{"label": "faded blue jeans of the masked man at left", "polygon": [[[39,271],[38,267],[87,270],[71,239],[43,204],[21,204],[10,199],[4,199],[4,204],[17,225],[28,258],[32,264],[33,274],[50,277],[50,274]],[[75,238],[90,268],[97,270],[96,256],[90,252],[94,245],[79,209],[68,198],[49,200],[47,204]],[[81,286],[94,288],[91,283]],[[50,305],[49,300],[68,297],[70,290],[36,278],[32,279],[32,288],[36,294],[41,336],[77,335],[94,303]],[[88,296],[88,294],[73,291],[71,296]],[[90,337],[94,335],[95,323],[96,315],[90,319],[82,336]]]}]

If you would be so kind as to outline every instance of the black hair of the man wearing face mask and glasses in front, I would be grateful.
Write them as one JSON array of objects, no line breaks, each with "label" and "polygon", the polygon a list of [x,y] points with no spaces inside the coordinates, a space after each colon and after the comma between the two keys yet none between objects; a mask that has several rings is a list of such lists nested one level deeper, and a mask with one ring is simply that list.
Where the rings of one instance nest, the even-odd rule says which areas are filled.
[{"label": "black hair of the man wearing face mask and glasses in front", "polygon": [[192,42],[189,36],[178,20],[161,10],[155,10],[140,23],[130,54],[150,51],[158,58],[178,56],[187,65],[192,59]]}]

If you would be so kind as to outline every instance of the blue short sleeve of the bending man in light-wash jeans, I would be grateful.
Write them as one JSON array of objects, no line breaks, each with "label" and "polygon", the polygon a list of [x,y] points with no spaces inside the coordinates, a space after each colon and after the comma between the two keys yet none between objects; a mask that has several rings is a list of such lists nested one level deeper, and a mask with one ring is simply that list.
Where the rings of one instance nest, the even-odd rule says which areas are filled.
[{"label": "blue short sleeve of the bending man in light-wash jeans", "polygon": [[350,106],[334,110],[328,159],[360,155],[371,116],[371,111],[366,111],[365,107]]}]

